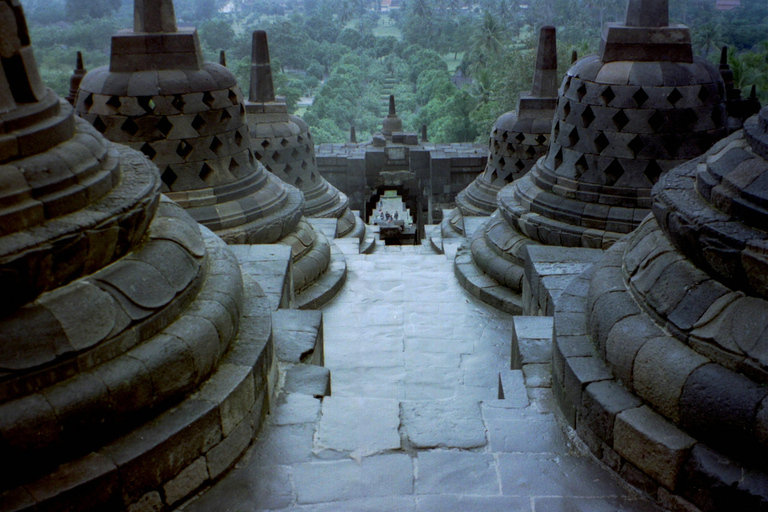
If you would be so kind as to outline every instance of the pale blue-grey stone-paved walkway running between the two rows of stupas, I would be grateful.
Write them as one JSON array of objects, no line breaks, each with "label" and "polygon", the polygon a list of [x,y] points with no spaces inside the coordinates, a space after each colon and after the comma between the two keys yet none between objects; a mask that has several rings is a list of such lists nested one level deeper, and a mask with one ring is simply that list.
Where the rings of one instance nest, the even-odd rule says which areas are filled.
[{"label": "pale blue-grey stone-paved walkway running between the two rows of stupas", "polygon": [[550,389],[510,370],[512,317],[465,292],[448,258],[378,247],[347,262],[323,309],[332,396],[281,392],[250,452],[183,510],[660,510],[564,434]]}]

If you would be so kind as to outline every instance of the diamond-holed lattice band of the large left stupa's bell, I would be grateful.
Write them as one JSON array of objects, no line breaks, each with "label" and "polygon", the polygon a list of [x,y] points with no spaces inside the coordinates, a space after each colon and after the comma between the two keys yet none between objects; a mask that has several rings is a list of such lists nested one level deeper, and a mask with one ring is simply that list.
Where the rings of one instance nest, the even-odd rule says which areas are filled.
[{"label": "diamond-holed lattice band of the large left stupa's bell", "polygon": [[81,117],[108,139],[144,153],[164,192],[215,187],[253,172],[239,88],[155,96],[87,92]]}]

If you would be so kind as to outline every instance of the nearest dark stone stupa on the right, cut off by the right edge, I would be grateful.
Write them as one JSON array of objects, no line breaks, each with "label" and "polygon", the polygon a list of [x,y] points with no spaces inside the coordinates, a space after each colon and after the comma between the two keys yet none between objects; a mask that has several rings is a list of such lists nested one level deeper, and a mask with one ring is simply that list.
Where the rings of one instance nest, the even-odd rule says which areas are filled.
[{"label": "nearest dark stone stupa on the right, cut off by the right edge", "polygon": [[666,503],[762,510],[768,109],[653,196],[653,214],[556,304],[554,395],[598,457]]}]

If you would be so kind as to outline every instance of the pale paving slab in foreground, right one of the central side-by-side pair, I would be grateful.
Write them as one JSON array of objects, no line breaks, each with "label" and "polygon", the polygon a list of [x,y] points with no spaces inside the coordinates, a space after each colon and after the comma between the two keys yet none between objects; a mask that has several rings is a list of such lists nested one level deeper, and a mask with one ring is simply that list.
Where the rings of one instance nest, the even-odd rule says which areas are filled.
[{"label": "pale paving slab in foreground, right one of the central side-by-side pair", "polygon": [[487,443],[476,400],[404,401],[400,419],[414,448],[479,448]]}]

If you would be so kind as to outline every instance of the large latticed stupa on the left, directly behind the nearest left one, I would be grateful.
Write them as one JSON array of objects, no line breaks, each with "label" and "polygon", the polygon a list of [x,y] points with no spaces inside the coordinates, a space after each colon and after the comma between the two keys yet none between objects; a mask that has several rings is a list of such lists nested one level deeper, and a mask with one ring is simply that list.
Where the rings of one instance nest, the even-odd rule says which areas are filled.
[{"label": "large latticed stupa on the left, directly behind the nearest left one", "polygon": [[161,191],[227,243],[289,245],[299,294],[329,268],[304,197],[255,158],[235,76],[204,62],[197,31],[172,0],[136,0],[133,30],[112,38],[109,66],[83,78],[76,109],[108,139],[142,151]]}]

